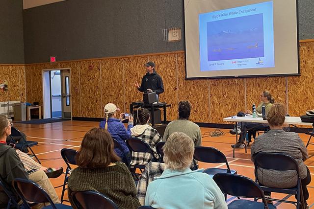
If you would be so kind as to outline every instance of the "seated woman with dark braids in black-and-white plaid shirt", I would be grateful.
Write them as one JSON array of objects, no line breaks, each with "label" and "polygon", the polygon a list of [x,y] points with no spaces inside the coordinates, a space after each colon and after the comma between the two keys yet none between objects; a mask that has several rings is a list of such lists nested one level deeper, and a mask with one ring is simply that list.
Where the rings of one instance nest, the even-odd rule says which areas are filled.
[{"label": "seated woman with dark braids in black-and-white plaid shirt", "polygon": [[[136,137],[138,139],[145,140],[154,151],[155,157],[158,159],[158,154],[156,151],[156,144],[162,140],[157,130],[152,126],[148,125],[150,118],[149,111],[145,108],[141,108],[137,111],[136,124],[131,128],[131,137]],[[146,165],[152,159],[151,154],[142,152],[132,152],[132,165]]]}]

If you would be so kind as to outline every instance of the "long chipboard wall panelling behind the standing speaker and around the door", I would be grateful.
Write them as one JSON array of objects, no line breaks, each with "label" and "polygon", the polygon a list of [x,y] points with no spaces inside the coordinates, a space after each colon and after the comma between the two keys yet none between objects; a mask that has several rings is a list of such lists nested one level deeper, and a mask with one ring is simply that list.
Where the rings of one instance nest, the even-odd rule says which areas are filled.
[{"label": "long chipboard wall panelling behind the standing speaker and around the door", "polygon": [[263,90],[270,91],[275,101],[286,104],[291,116],[314,109],[314,42],[300,43],[301,76],[289,77],[185,80],[182,51],[26,65],[27,101],[42,104],[42,69],[70,68],[73,116],[103,117],[108,102],[129,112],[130,103],[142,99],[134,83],[140,83],[146,72],[143,64],[149,60],[156,63],[164,82],[165,93],[160,100],[172,105],[167,112],[169,120],[177,118],[179,101],[189,100],[193,106],[192,121],[224,123],[224,117],[258,103]]}]

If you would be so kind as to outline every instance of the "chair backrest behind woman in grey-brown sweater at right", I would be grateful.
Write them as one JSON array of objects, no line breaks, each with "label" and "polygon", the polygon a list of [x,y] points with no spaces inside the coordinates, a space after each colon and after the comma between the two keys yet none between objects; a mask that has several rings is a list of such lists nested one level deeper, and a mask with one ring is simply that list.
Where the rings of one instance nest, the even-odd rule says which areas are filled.
[{"label": "chair backrest behind woman in grey-brown sweater at right", "polygon": [[296,170],[299,175],[298,163],[288,154],[259,152],[253,156],[255,169],[263,168],[269,170]]}]

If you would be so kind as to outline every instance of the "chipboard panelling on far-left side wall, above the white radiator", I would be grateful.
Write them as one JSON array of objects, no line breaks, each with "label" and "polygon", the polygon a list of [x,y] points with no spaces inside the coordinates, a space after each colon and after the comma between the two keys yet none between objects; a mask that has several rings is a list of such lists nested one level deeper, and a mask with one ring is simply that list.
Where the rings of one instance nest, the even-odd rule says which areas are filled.
[{"label": "chipboard panelling on far-left side wall, above the white radiator", "polygon": [[1,65],[0,83],[6,81],[8,92],[0,91],[0,101],[26,101],[26,79],[24,65]]}]

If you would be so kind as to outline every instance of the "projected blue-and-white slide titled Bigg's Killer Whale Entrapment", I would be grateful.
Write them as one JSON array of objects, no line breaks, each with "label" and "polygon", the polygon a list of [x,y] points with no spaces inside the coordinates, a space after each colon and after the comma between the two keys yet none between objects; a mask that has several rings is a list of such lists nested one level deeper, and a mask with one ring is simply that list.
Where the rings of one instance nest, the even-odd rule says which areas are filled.
[{"label": "projected blue-and-white slide titled Bigg's Killer Whale Entrapment", "polygon": [[274,67],[272,1],[200,14],[199,28],[201,71]]}]

